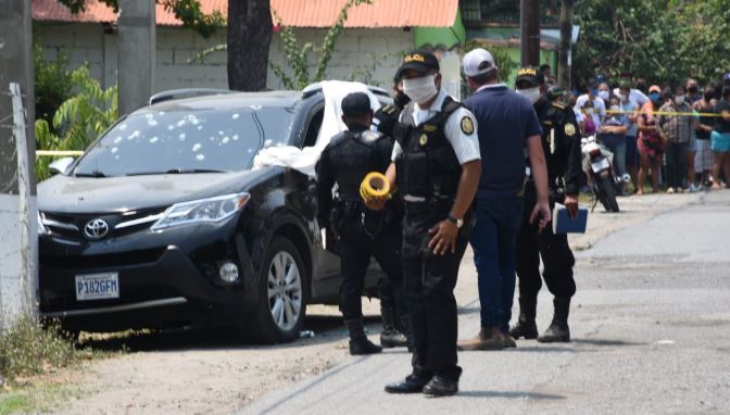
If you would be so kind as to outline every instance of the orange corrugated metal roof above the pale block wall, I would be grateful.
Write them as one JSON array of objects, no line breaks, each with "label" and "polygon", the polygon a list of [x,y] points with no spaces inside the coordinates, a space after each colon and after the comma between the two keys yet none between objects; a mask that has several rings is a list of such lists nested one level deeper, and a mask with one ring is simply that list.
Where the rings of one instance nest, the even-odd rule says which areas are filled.
[{"label": "orange corrugated metal roof above the pale block wall", "polygon": [[[152,1],[152,0],[151,0]],[[270,0],[286,26],[330,27],[347,0]],[[227,0],[201,0],[204,12],[226,14]],[[456,20],[458,0],[373,0],[350,9],[345,27],[450,27]],[[116,14],[99,0],[86,0],[86,11],[72,14],[58,0],[33,0],[33,18],[47,22],[113,23]],[[173,13],[156,7],[159,25],[178,26]]]}]

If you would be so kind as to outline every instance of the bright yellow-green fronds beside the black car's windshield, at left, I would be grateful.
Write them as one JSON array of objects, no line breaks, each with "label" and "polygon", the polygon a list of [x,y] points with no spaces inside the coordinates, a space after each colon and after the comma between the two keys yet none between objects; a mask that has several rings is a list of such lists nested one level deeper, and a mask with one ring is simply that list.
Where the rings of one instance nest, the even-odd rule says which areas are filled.
[{"label": "bright yellow-green fronds beside the black car's windshield, at left", "polygon": [[[46,120],[36,120],[36,141],[39,150],[86,150],[118,117],[118,89],[102,89],[81,66],[71,73],[78,92],[64,101],[52,118],[52,128]],[[54,131],[60,131],[56,135]],[[36,179],[50,176],[48,165],[53,158],[38,158]]]}]

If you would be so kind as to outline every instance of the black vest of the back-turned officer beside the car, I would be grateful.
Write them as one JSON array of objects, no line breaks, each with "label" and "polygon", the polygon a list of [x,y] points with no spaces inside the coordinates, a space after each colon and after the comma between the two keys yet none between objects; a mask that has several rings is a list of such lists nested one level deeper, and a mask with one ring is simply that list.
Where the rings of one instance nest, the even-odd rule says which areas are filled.
[{"label": "black vest of the back-turned officer beside the car", "polygon": [[382,137],[370,130],[342,131],[332,137],[329,156],[340,200],[361,201],[360,184],[365,175],[383,169],[381,159],[388,161],[392,146],[380,142]]}]

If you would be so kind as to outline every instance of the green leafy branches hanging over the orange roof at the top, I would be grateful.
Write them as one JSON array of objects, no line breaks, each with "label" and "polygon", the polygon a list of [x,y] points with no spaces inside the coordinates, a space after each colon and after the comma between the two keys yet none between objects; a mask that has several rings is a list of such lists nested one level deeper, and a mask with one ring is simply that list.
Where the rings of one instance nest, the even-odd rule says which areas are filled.
[{"label": "green leafy branches hanging over the orange roof at the top", "polygon": [[[58,0],[65,4],[72,13],[76,14],[86,10],[86,0]],[[118,0],[100,0],[114,12],[119,11]],[[185,27],[189,27],[202,37],[209,38],[215,32],[226,24],[226,18],[218,11],[211,14],[205,14],[201,7],[200,0],[156,0],[158,4],[162,4],[166,11],[173,12]]]}]

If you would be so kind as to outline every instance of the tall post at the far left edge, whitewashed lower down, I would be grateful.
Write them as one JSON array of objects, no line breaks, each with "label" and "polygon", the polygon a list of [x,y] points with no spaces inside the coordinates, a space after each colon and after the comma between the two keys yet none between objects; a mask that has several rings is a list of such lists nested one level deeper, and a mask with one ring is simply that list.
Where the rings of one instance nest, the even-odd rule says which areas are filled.
[{"label": "tall post at the far left edge, whitewashed lower down", "polygon": [[0,0],[0,329],[37,311],[34,110],[30,1]]}]

